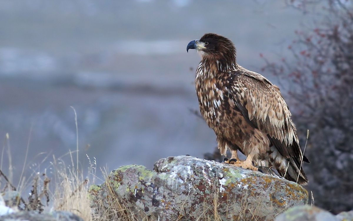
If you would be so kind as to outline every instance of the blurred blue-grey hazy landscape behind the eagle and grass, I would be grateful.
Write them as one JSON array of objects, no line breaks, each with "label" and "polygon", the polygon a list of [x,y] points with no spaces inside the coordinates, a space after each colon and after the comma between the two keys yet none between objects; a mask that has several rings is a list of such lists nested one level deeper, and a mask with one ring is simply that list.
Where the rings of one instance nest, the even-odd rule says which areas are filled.
[{"label": "blurred blue-grey hazy landscape behind the eagle and grass", "polygon": [[[235,43],[240,65],[279,84],[274,69],[264,67],[295,59],[288,50],[295,30],[311,28],[322,11],[298,10],[301,4],[0,0],[2,168],[11,163],[17,183],[24,164],[28,177],[49,168],[53,155],[75,151],[73,108],[82,168],[89,167],[86,154],[99,171],[127,164],[152,169],[163,157],[213,152],[214,132],[193,113],[200,57],[186,53],[186,45],[207,32],[222,34]],[[285,95],[289,84],[280,84]]]}]

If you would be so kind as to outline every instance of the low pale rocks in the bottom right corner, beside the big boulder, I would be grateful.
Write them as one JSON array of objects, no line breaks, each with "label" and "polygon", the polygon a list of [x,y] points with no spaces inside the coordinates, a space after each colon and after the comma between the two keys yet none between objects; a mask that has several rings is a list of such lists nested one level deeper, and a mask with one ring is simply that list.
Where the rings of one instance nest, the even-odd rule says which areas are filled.
[{"label": "low pale rocks in the bottom right corner, beside the big boulder", "polygon": [[278,215],[275,221],[353,221],[353,211],[335,216],[318,207],[296,206]]}]

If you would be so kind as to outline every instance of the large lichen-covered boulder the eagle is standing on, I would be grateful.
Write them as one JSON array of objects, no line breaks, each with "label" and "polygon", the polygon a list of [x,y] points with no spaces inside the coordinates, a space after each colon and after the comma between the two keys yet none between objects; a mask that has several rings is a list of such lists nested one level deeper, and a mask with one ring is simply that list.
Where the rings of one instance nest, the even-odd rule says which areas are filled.
[{"label": "large lichen-covered boulder the eagle is standing on", "polygon": [[114,205],[159,220],[272,220],[307,203],[307,191],[286,179],[190,156],[144,166],[122,166],[91,194],[102,209]]}]

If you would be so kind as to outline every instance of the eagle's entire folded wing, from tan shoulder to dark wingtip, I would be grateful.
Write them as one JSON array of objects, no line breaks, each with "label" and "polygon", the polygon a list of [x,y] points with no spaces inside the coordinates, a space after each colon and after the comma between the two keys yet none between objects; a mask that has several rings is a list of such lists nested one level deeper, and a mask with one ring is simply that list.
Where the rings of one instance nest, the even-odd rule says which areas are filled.
[{"label": "eagle's entire folded wing, from tan shoulder to dark wingtip", "polygon": [[250,125],[267,134],[271,144],[299,172],[301,160],[309,160],[302,157],[291,112],[279,88],[262,75],[241,67],[232,73],[232,78],[231,94],[237,108]]}]

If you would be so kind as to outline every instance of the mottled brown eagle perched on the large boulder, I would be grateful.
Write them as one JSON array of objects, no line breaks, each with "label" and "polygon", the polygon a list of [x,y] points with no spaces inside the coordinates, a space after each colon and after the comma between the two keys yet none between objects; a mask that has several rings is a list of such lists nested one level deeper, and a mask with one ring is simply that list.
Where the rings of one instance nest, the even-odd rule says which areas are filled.
[{"label": "mottled brown eagle perched on the large boulder", "polygon": [[[291,112],[280,90],[264,76],[237,64],[233,42],[215,33],[191,41],[202,60],[195,86],[201,114],[214,130],[225,163],[258,171],[270,167],[289,181],[307,184]],[[246,156],[238,158],[237,150]]]}]

